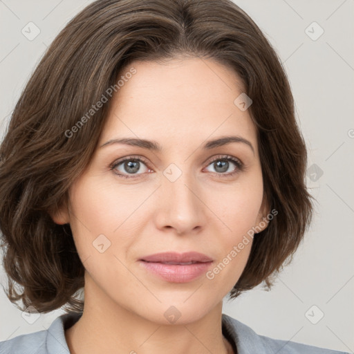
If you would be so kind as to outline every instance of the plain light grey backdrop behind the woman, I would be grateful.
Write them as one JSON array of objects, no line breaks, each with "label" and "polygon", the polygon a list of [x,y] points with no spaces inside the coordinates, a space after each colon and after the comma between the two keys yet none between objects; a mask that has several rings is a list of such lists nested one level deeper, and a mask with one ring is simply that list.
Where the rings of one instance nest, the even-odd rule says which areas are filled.
[{"label": "plain light grey backdrop behind the woman", "polygon": [[[1,136],[44,50],[90,2],[0,0]],[[318,204],[304,243],[272,291],[258,286],[224,301],[223,312],[261,335],[353,353],[354,0],[235,2],[265,32],[286,68],[308,145],[308,187]],[[32,41],[21,33],[30,21],[40,30]],[[0,311],[0,341],[48,328],[64,313],[25,319],[2,290]]]}]

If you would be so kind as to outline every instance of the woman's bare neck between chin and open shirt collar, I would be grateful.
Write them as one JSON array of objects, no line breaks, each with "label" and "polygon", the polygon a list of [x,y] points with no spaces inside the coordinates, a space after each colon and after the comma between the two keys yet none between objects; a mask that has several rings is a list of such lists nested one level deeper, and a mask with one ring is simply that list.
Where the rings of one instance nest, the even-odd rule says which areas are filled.
[{"label": "woman's bare neck between chin and open shirt collar", "polygon": [[160,324],[113,303],[90,281],[84,294],[82,317],[65,331],[71,354],[234,353],[222,333],[222,301],[195,321]]}]

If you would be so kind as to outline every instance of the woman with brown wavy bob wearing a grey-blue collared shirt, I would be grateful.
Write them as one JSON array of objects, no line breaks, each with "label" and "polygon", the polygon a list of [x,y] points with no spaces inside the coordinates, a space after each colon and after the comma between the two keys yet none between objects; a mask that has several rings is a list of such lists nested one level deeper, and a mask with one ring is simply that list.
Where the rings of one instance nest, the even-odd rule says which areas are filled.
[{"label": "woman with brown wavy bob wearing a grey-blue collared shirt", "polygon": [[312,216],[286,74],[231,1],[95,1],[0,154],[8,297],[68,312],[0,353],[339,353],[222,313],[272,286]]}]

